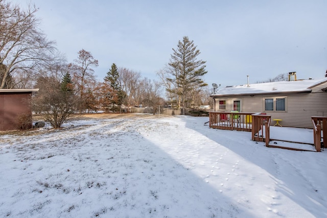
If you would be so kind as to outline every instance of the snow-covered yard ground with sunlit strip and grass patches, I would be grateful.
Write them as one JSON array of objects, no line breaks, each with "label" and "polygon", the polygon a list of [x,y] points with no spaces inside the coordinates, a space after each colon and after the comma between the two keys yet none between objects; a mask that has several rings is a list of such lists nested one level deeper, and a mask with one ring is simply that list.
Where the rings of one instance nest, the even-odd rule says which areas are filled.
[{"label": "snow-covered yard ground with sunlit strip and grass patches", "polygon": [[[327,216],[325,151],[266,148],[207,121],[80,119],[0,135],[0,216]],[[312,142],[312,130],[288,130],[271,137]]]}]

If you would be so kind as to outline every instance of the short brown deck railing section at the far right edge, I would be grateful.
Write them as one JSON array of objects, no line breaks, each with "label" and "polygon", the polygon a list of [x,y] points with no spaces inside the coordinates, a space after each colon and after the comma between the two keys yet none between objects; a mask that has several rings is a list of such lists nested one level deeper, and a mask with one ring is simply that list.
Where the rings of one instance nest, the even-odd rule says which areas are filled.
[{"label": "short brown deck railing section at the far right edge", "polygon": [[313,125],[313,143],[317,152],[320,152],[321,147],[327,148],[327,117],[312,116],[311,120]]}]

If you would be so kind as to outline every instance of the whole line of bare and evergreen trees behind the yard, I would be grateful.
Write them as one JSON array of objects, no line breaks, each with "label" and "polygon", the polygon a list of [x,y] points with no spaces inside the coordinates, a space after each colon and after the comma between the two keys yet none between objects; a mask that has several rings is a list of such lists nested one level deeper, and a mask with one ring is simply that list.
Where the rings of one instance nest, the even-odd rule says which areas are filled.
[{"label": "whole line of bare and evergreen trees behind the yard", "polygon": [[[141,72],[111,64],[103,81],[97,81],[99,62],[80,50],[68,63],[39,29],[38,9],[23,10],[0,0],[0,88],[39,88],[33,109],[60,127],[69,114],[79,111],[117,112],[138,105],[169,105],[183,109],[209,104],[205,61],[187,36],[178,41],[167,66],[157,72],[158,81],[142,78]],[[164,92],[162,92],[162,87]],[[64,115],[63,115],[64,114]],[[65,117],[67,116],[67,117]]]}]

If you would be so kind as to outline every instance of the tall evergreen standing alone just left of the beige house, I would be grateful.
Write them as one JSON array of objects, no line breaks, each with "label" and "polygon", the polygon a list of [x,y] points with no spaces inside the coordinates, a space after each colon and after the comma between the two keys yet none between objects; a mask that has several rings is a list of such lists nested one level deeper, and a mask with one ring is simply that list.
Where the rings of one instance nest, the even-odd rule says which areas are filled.
[{"label": "tall evergreen standing alone just left of the beige house", "polygon": [[186,101],[191,97],[191,90],[207,86],[202,80],[207,71],[204,69],[205,61],[197,60],[200,51],[189,37],[184,36],[182,41],[178,41],[177,49],[173,51],[169,63],[172,77],[167,78],[167,81],[172,83],[174,88],[167,91],[179,96],[179,106],[182,102],[183,114],[185,114]]}]

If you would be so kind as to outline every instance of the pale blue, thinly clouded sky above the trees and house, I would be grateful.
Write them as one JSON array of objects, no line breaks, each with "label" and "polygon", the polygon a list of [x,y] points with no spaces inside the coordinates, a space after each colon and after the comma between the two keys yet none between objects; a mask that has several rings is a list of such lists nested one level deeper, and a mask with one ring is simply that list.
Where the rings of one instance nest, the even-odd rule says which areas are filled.
[{"label": "pale blue, thinly clouded sky above the trees and house", "polygon": [[[13,0],[26,7],[30,0]],[[327,69],[327,1],[31,0],[41,29],[68,62],[81,49],[99,60],[158,79],[183,36],[206,61],[204,81],[241,85],[296,71],[322,78]]]}]

